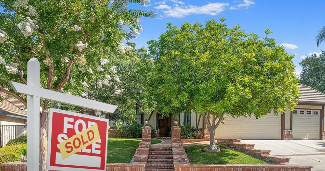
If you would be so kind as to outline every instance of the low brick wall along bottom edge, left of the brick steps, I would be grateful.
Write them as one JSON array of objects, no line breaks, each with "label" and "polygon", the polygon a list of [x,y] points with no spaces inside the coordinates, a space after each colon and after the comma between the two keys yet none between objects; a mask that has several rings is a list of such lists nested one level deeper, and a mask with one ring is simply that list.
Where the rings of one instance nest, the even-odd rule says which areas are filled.
[{"label": "low brick wall along bottom edge, left of the brick steps", "polygon": [[[0,164],[2,171],[27,171],[27,163],[5,163]],[[145,163],[108,163],[106,164],[106,171],[145,171]],[[51,170],[49,170],[51,171]]]}]

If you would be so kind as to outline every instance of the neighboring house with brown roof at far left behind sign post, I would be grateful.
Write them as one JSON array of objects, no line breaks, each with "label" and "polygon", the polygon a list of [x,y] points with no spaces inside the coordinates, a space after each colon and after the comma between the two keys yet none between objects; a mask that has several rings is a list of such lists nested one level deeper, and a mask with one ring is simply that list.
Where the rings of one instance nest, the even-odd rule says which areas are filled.
[{"label": "neighboring house with brown roof at far left behind sign post", "polygon": [[15,97],[1,91],[0,96],[0,147],[3,147],[9,140],[26,134],[27,112]]}]

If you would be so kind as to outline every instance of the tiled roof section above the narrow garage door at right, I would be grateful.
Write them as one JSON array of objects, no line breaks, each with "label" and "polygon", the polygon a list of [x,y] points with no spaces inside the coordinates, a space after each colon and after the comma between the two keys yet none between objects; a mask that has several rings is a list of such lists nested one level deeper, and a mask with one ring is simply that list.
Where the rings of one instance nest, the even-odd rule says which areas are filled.
[{"label": "tiled roof section above the narrow garage door at right", "polygon": [[298,84],[301,96],[298,103],[325,104],[325,94],[314,88]]}]

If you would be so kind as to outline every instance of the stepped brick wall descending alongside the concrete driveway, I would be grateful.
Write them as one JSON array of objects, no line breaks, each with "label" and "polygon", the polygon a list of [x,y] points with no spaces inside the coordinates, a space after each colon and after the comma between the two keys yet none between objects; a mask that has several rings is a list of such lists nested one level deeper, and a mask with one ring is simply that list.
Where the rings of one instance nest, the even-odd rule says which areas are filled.
[{"label": "stepped brick wall descending alongside the concrete driveway", "polygon": [[267,162],[271,162],[274,164],[285,164],[289,163],[290,161],[290,158],[288,157],[269,156],[270,150],[257,150],[254,149],[254,144],[241,144],[240,141],[241,139],[217,139],[217,143],[220,145],[224,145],[232,149],[250,154],[252,156],[266,160]]}]

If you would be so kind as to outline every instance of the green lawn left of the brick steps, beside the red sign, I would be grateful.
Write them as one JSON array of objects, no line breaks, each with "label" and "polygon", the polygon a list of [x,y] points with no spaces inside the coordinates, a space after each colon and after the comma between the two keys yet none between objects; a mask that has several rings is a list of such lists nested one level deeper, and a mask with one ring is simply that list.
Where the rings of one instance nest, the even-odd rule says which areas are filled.
[{"label": "green lawn left of the brick steps, beside the red sign", "polygon": [[[107,143],[107,163],[130,163],[141,139],[110,138]],[[151,144],[162,142],[151,140]]]}]

